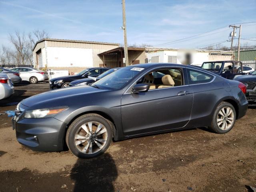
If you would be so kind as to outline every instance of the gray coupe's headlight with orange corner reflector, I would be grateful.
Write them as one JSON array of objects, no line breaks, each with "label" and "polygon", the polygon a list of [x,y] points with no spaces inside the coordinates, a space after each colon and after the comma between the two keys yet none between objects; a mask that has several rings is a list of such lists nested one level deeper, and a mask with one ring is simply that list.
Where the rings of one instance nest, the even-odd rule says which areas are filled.
[{"label": "gray coupe's headlight with orange corner reflector", "polygon": [[24,118],[49,118],[68,109],[66,106],[25,111]]}]

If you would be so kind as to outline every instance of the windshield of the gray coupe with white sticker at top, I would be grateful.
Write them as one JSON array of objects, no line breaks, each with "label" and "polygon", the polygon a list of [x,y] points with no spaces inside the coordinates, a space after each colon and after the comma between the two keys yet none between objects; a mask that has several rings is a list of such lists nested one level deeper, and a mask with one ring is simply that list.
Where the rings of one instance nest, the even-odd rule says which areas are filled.
[{"label": "windshield of the gray coupe with white sticker at top", "polygon": [[125,86],[142,70],[144,70],[144,68],[124,67],[98,80],[97,82],[93,83],[92,86],[100,89],[118,90]]}]

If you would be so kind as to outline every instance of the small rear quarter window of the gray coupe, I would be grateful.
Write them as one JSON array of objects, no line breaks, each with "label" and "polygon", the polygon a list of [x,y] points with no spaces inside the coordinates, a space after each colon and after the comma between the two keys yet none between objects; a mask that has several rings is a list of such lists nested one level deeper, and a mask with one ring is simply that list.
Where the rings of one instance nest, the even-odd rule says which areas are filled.
[{"label": "small rear quarter window of the gray coupe", "polygon": [[208,83],[210,82],[214,76],[197,71],[197,70],[191,70],[188,69],[188,81],[189,84],[200,84],[200,83]]}]

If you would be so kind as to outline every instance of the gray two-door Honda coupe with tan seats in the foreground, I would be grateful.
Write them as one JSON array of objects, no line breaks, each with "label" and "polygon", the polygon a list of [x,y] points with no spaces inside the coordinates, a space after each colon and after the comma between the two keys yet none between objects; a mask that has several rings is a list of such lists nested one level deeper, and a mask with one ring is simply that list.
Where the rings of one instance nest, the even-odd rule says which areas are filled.
[{"label": "gray two-door Honda coupe with tan seats in the foreground", "polygon": [[138,64],[90,86],[22,100],[12,119],[18,142],[35,151],[68,146],[79,158],[104,153],[112,140],[207,126],[229,132],[246,114],[244,84],[181,64]]}]

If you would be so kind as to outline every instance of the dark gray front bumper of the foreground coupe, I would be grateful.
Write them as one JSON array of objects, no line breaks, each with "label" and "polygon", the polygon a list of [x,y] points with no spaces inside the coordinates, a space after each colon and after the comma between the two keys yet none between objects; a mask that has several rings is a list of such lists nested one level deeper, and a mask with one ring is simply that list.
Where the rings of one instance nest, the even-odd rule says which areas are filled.
[{"label": "dark gray front bumper of the foreground coupe", "polygon": [[[22,116],[22,115],[21,115]],[[60,151],[64,148],[67,124],[55,118],[12,119],[18,142],[34,151]]]}]

